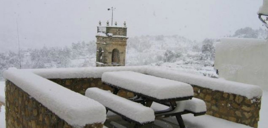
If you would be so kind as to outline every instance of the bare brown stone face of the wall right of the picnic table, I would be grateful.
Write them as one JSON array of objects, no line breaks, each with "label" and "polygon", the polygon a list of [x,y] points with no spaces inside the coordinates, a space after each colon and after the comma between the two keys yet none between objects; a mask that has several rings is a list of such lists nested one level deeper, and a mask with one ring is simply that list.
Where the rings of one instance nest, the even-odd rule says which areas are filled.
[{"label": "bare brown stone face of the wall right of the picnic table", "polygon": [[194,97],[206,102],[207,113],[214,117],[258,127],[261,98],[248,99],[237,94],[224,93],[192,85]]}]

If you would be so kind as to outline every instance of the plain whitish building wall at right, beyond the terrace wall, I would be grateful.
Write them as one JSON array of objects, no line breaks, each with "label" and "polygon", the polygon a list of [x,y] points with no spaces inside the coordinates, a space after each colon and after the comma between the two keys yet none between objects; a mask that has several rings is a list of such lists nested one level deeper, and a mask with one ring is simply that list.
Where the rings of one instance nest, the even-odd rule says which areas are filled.
[{"label": "plain whitish building wall at right, beyond the terrace wall", "polygon": [[221,78],[268,90],[268,41],[222,38],[216,44],[214,66]]}]

